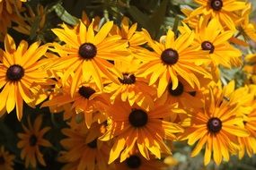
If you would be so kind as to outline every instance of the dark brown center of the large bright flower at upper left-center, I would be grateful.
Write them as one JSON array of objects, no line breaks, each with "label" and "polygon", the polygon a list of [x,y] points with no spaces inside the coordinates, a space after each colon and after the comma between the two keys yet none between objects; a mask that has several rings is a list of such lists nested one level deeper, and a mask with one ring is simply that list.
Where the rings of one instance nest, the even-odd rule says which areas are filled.
[{"label": "dark brown center of the large bright flower at upper left-center", "polygon": [[92,43],[84,43],[79,47],[78,53],[82,58],[90,60],[97,55],[97,47]]}]

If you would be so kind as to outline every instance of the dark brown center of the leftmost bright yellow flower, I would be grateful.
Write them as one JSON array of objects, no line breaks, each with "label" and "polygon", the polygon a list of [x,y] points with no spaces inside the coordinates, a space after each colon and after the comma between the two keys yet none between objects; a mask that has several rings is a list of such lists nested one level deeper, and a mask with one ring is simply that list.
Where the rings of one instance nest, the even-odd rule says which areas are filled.
[{"label": "dark brown center of the leftmost bright yellow flower", "polygon": [[13,64],[7,69],[6,77],[9,81],[20,81],[24,76],[24,72],[21,65]]}]

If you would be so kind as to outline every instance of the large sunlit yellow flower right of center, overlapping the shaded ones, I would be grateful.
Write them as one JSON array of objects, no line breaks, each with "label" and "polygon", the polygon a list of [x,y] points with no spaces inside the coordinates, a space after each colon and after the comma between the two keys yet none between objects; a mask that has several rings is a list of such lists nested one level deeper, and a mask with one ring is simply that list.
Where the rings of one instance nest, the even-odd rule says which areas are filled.
[{"label": "large sunlit yellow flower right of center, overlapping the shaded ones", "polygon": [[186,80],[192,88],[195,85],[200,87],[199,79],[195,73],[211,78],[209,72],[202,66],[208,62],[205,57],[207,52],[191,46],[195,37],[193,31],[182,32],[180,37],[175,39],[172,30],[168,30],[164,41],[161,43],[151,39],[146,30],[144,33],[149,47],[152,47],[154,51],[143,50],[138,54],[140,55],[137,56],[138,59],[145,62],[139,68],[139,74],[145,77],[150,76],[149,85],[158,81],[158,98],[163,95],[169,81],[172,81],[172,89],[178,87],[178,76]]}]

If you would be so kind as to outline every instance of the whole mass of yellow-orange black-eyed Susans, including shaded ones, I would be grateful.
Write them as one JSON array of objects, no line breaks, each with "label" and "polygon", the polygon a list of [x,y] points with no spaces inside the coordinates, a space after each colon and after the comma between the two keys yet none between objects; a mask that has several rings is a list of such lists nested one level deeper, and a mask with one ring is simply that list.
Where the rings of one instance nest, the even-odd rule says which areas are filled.
[{"label": "whole mass of yellow-orange black-eyed Susans, including shaded ones", "polygon": [[[161,169],[172,142],[181,140],[194,146],[191,157],[204,149],[206,166],[256,154],[256,55],[243,60],[241,50],[256,40],[252,4],[195,0],[199,8],[182,9],[187,18],[159,40],[127,17],[102,23],[84,13],[75,26],[52,29],[53,42],[16,46],[6,29],[22,2],[0,2],[0,116],[15,110],[21,121],[24,105],[63,113],[63,169]],[[28,13],[31,20],[17,19],[14,28],[27,35],[35,18]],[[38,13],[40,34],[42,6]],[[222,69],[242,66],[243,86],[223,81]],[[40,146],[54,148],[44,139],[51,128],[40,129],[42,115],[27,123],[18,133],[21,159],[26,167],[47,166]],[[12,169],[13,159],[2,147],[0,167]]]}]

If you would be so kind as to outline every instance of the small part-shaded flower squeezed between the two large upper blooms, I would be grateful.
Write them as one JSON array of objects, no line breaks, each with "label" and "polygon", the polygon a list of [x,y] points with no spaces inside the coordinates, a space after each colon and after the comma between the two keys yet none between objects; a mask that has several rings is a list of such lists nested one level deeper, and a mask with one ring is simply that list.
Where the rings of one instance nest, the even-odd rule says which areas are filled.
[{"label": "small part-shaded flower squeezed between the two large upper blooms", "polygon": [[145,108],[154,106],[154,96],[156,90],[153,86],[148,86],[148,80],[137,76],[137,71],[140,62],[136,59],[130,61],[130,64],[125,62],[115,62],[116,68],[122,72],[122,77],[117,79],[119,83],[110,82],[104,87],[107,93],[110,93],[110,101],[113,103],[116,99],[128,101],[130,106],[135,103],[138,106]]}]

